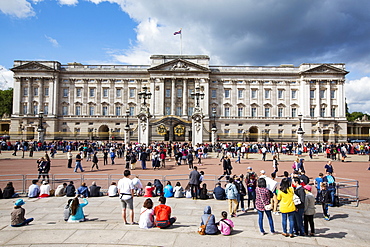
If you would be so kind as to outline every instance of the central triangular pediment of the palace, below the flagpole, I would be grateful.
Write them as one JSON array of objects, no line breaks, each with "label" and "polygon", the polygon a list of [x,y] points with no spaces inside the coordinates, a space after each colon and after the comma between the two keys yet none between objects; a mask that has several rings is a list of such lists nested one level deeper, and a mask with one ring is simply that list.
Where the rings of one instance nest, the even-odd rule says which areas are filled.
[{"label": "central triangular pediment of the palace, below the flagpole", "polygon": [[155,72],[155,71],[173,71],[173,72],[210,72],[210,69],[201,66],[199,64],[189,62],[185,59],[175,59],[157,66],[154,66],[148,71]]}]

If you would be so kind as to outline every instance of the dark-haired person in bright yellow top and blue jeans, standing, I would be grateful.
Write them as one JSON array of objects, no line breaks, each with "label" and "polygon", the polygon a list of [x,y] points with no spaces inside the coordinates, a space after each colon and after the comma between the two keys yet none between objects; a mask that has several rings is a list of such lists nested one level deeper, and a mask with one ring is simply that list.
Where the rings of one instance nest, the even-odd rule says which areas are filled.
[{"label": "dark-haired person in bright yellow top and blue jeans, standing", "polygon": [[[277,199],[280,202],[280,212],[282,216],[283,236],[293,237],[294,212],[296,211],[293,201],[294,189],[290,186],[287,178],[281,180],[280,190],[277,193]],[[289,218],[289,234],[287,233],[287,219]]]}]

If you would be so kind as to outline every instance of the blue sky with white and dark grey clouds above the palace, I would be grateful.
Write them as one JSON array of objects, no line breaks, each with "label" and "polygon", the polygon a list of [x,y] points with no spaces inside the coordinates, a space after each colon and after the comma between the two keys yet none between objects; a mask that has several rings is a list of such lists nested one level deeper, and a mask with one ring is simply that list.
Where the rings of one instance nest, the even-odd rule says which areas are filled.
[{"label": "blue sky with white and dark grey clouds above the palace", "polygon": [[14,60],[149,65],[345,63],[349,111],[370,113],[369,0],[0,0],[0,89]]}]

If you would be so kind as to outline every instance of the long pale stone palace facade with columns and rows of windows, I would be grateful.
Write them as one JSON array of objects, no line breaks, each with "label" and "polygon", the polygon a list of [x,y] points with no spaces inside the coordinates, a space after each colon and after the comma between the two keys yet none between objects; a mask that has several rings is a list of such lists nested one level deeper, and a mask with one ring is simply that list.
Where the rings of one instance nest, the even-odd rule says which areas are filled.
[{"label": "long pale stone palace facade with columns and rows of windows", "polygon": [[[213,66],[206,55],[153,55],[150,65],[15,61],[10,133],[36,139],[138,140],[143,86],[151,141],[191,141],[196,101],[203,141],[345,142],[345,65]],[[194,91],[202,92],[194,98]],[[42,112],[42,116],[40,113]]]}]

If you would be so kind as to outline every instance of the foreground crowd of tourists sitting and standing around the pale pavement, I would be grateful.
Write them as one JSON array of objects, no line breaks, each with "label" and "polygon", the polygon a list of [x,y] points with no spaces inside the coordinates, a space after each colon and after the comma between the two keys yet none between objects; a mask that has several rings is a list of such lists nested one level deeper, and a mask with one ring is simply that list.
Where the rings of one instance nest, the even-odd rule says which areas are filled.
[{"label": "foreground crowd of tourists sitting and standing around the pale pavement", "polygon": [[[246,174],[232,175],[232,168],[227,167],[230,164],[228,162],[230,156],[231,154],[226,154],[226,156],[222,157],[223,162],[226,164],[224,166],[229,171],[219,177],[219,182],[210,191],[207,190],[207,185],[204,181],[204,172],[198,171],[198,166],[189,167],[191,172],[185,188],[181,186],[180,182],[176,182],[174,183],[175,186],[172,186],[171,181],[167,181],[163,185],[159,179],[154,179],[153,183],[148,182],[144,187],[139,177],[136,176],[131,179],[131,171],[126,169],[124,177],[118,181],[118,184],[112,182],[108,189],[108,196],[119,198],[124,223],[138,224],[140,228],[167,228],[174,224],[176,217],[171,215],[171,207],[166,205],[166,199],[171,197],[185,197],[193,200],[214,198],[227,201],[228,212],[226,210],[220,212],[221,217],[219,221],[216,221],[215,215],[212,214],[211,205],[204,208],[204,214],[201,217],[201,226],[203,227],[200,227],[198,231],[200,234],[221,233],[228,235],[232,233],[234,228],[233,221],[227,219],[228,215],[230,217],[239,217],[257,212],[261,235],[266,234],[263,227],[264,215],[268,219],[271,234],[278,233],[273,218],[281,215],[282,235],[287,237],[314,236],[316,204],[322,206],[324,219],[330,220],[329,207],[334,206],[338,200],[335,196],[336,184],[331,160],[325,164],[323,172],[312,181],[317,191],[316,195],[313,195],[312,186],[309,185],[311,181],[306,175],[303,159],[294,161],[292,171],[284,171],[279,183],[276,181],[278,164],[275,164],[274,172],[270,176],[267,176],[264,170],[257,174],[252,167],[248,167]],[[273,160],[275,159],[276,156]],[[179,162],[183,162],[182,159],[179,159]],[[28,197],[42,198],[51,195],[71,197],[72,199],[68,200],[64,208],[64,219],[68,222],[87,220],[83,211],[83,207],[88,205],[87,199],[103,195],[100,192],[100,186],[97,186],[96,182],[93,182],[89,188],[85,183],[82,183],[76,189],[73,181],[71,181],[68,185],[67,183],[61,184],[55,191],[52,191],[47,177],[44,177],[41,186],[38,185],[39,179],[32,181],[32,185],[28,190]],[[224,180],[226,184],[221,186]],[[4,189],[4,192],[7,192],[3,192],[1,196],[4,197],[7,194],[6,198],[17,197],[14,187],[12,192],[10,192],[12,195],[9,197],[8,187],[12,187],[12,183],[9,182],[8,185]],[[134,220],[133,200],[135,196],[148,197],[140,211],[139,223],[136,223]],[[156,207],[153,205],[152,198],[154,197],[159,198],[159,205]],[[244,197],[246,197],[246,207]],[[83,200],[82,203],[80,203],[80,198]],[[25,210],[22,208],[23,204],[24,201],[22,199],[16,201],[14,211],[11,214],[12,226],[26,225],[33,220],[32,218],[25,218]]]}]

